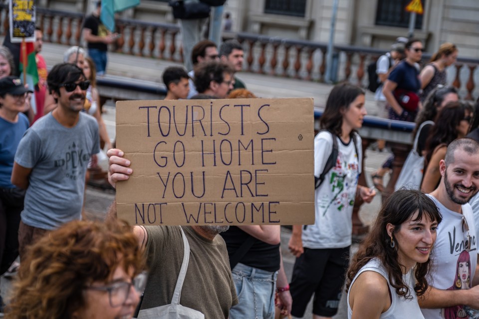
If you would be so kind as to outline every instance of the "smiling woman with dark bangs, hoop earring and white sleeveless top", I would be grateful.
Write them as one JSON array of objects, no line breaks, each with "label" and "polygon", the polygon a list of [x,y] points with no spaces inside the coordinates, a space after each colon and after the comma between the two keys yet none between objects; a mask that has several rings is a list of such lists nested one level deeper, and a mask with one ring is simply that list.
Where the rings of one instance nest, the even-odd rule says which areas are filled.
[{"label": "smiling woman with dark bangs, hoop earring and white sleeveless top", "polygon": [[381,208],[347,273],[349,319],[424,318],[430,254],[442,216],[417,190],[394,192]]}]

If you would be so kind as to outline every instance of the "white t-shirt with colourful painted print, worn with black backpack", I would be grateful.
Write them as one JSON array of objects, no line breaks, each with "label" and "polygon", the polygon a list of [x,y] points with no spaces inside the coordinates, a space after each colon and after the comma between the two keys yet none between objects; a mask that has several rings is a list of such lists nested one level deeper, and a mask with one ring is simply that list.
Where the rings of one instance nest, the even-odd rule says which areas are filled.
[{"label": "white t-shirt with colourful painted print, worn with black backpack", "polygon": [[[307,248],[344,248],[351,245],[354,199],[361,173],[361,138],[357,137],[357,150],[351,138],[345,144],[339,137],[336,165],[314,193],[315,222],[302,232],[303,246]],[[320,132],[314,138],[314,175],[319,176],[333,148],[332,135]]]}]

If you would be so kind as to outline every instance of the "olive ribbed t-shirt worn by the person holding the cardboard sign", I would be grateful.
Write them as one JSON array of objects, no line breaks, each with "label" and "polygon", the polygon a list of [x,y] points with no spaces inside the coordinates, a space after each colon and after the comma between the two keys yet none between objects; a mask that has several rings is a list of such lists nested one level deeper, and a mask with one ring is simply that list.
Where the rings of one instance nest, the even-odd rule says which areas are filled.
[{"label": "olive ribbed t-shirt worn by the person holding the cardboard sign", "polygon": [[[150,309],[171,304],[183,262],[183,240],[178,226],[145,229],[149,275],[141,309]],[[190,262],[180,304],[203,313],[206,319],[227,319],[238,297],[225,241],[221,236],[210,241],[189,226],[183,230],[190,244]]]}]

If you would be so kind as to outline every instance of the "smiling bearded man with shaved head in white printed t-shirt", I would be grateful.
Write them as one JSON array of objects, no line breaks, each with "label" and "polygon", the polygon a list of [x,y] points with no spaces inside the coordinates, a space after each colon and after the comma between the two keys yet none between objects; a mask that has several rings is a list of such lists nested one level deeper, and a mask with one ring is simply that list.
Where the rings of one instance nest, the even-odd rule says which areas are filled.
[{"label": "smiling bearded man with shaved head in white printed t-shirt", "polygon": [[[479,309],[478,238],[468,203],[479,190],[478,142],[469,138],[455,140],[439,165],[441,182],[429,196],[436,202],[444,223],[437,230],[431,252],[430,287],[419,298],[419,305],[426,319],[469,318],[469,308]],[[410,230],[412,235],[421,231],[421,226]],[[419,246],[420,243],[408,253],[427,253]],[[460,260],[465,251],[470,255],[467,262]]]}]

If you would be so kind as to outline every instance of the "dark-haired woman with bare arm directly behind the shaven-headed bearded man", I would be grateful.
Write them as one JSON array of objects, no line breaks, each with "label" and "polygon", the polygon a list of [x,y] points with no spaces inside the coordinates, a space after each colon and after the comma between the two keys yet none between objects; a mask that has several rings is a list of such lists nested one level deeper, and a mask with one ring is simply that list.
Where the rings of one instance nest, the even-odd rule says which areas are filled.
[{"label": "dark-haired woman with bare arm directly behind the shaven-headed bearded man", "polygon": [[441,181],[439,162],[446,156],[448,145],[469,133],[473,108],[466,102],[450,102],[439,112],[426,141],[426,165],[421,190],[431,193]]}]

